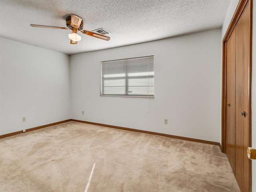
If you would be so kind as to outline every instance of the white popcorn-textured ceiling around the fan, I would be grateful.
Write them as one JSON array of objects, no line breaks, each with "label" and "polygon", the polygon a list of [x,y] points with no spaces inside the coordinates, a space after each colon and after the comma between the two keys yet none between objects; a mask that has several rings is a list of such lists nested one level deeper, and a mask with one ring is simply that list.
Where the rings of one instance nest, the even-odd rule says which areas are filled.
[{"label": "white popcorn-textured ceiling around the fan", "polygon": [[[230,0],[0,0],[0,37],[76,54],[148,42],[221,28]],[[66,27],[64,16],[76,14],[85,30],[104,28],[110,41],[71,30],[34,28],[30,24]]]}]

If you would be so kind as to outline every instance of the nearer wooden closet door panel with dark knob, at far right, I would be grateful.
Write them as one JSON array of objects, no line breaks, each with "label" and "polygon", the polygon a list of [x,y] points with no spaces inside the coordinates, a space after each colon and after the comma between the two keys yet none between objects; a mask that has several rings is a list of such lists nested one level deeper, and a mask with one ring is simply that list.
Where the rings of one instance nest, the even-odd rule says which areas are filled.
[{"label": "nearer wooden closet door panel with dark knob, at far right", "polygon": [[247,3],[236,24],[236,171],[242,192],[250,191],[250,160],[247,147],[251,146],[249,126],[250,91],[250,4]]}]

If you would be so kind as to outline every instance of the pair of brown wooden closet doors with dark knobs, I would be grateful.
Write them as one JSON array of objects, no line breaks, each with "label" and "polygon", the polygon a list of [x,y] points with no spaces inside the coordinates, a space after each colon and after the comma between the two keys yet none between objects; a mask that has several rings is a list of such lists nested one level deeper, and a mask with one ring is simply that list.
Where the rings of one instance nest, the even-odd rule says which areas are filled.
[{"label": "pair of brown wooden closet doors with dark knobs", "polygon": [[241,192],[251,191],[250,133],[251,4],[245,4],[226,41],[225,152]]}]

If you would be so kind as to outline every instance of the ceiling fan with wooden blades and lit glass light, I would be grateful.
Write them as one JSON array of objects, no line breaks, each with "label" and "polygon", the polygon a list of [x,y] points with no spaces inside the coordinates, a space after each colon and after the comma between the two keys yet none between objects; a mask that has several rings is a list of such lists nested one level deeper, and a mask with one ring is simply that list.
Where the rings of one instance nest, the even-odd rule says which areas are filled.
[{"label": "ceiling fan with wooden blades and lit glass light", "polygon": [[55,28],[55,29],[71,29],[72,33],[68,34],[68,38],[70,39],[70,44],[77,44],[78,41],[82,39],[80,35],[78,35],[78,31],[82,32],[83,34],[90,35],[96,38],[100,38],[106,41],[110,40],[110,37],[104,36],[102,34],[94,33],[87,30],[82,30],[84,28],[84,22],[82,18],[70,14],[66,16],[66,27],[55,27],[55,26],[46,26],[46,25],[34,25],[31,24],[32,27],[43,27],[43,28]]}]

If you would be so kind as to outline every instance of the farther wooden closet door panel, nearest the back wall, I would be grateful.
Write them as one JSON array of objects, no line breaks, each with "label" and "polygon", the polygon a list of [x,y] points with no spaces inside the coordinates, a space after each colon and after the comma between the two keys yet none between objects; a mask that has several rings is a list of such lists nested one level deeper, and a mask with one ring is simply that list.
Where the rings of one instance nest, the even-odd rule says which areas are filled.
[{"label": "farther wooden closet door panel, nearest the back wall", "polygon": [[235,56],[236,30],[227,42],[226,58],[226,155],[235,174]]}]

